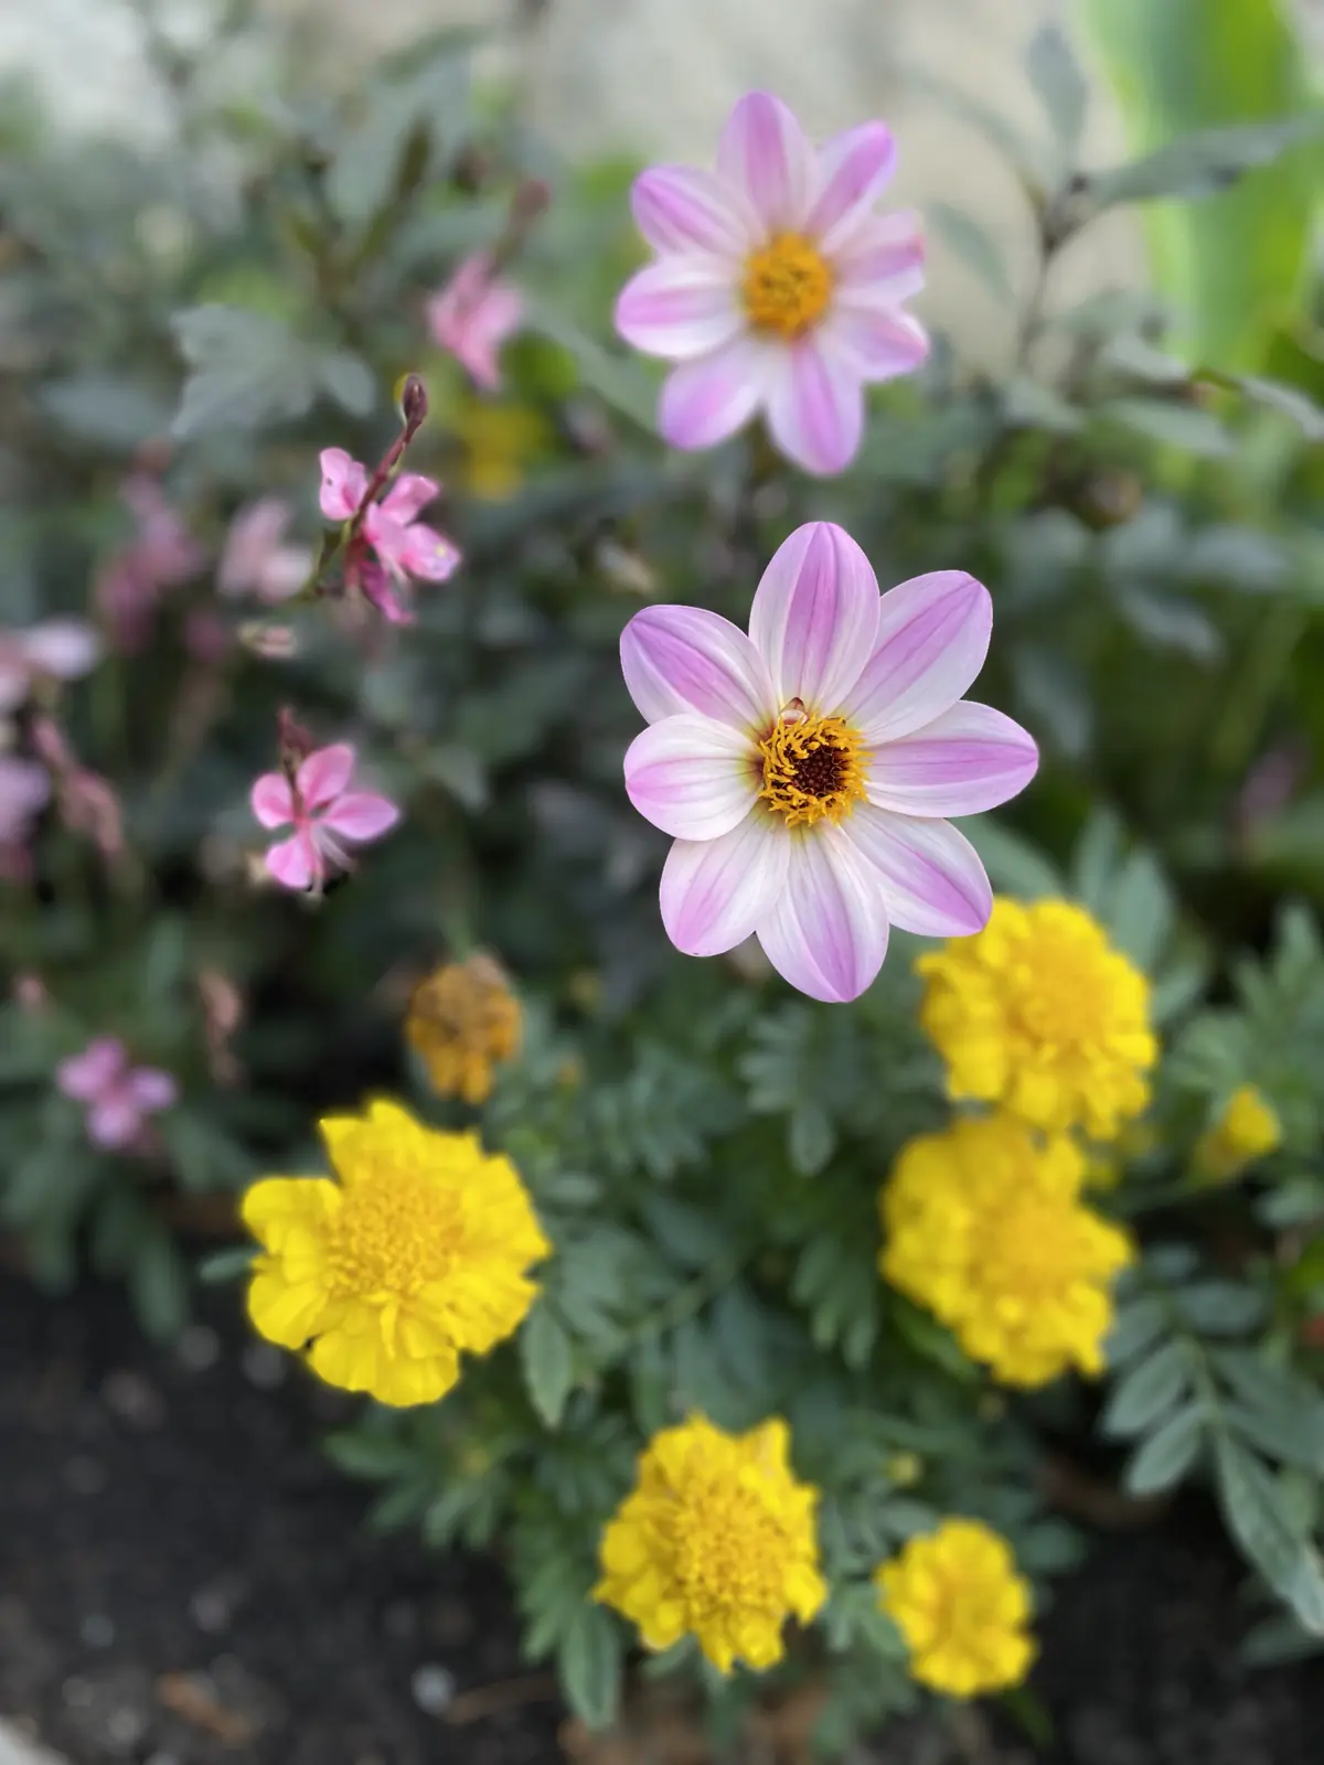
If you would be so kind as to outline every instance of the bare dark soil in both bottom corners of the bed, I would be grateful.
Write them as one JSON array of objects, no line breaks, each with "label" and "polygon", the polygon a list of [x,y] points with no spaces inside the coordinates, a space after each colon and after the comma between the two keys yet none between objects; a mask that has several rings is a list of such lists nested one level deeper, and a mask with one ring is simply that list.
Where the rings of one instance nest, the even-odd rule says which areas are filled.
[{"label": "bare dark soil in both bottom corners of the bed", "polygon": [[[0,1714],[74,1765],[554,1765],[537,1682],[436,1714],[526,1675],[500,1573],[367,1534],[316,1444],[341,1400],[210,1301],[164,1350],[113,1290],[0,1274]],[[1241,1581],[1199,1507],[1107,1537],[1043,1624],[1050,1746],[962,1712],[865,1758],[1319,1765],[1324,1664],[1241,1666]]]}]

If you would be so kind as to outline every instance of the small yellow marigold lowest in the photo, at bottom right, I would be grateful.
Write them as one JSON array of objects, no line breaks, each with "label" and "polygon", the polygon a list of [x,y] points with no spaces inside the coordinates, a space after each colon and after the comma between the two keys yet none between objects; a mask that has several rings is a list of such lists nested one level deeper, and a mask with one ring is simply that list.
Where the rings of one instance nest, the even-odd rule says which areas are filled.
[{"label": "small yellow marigold lowest in the photo, at bottom right", "polygon": [[879,1564],[874,1581],[922,1686],[978,1698],[1019,1686],[1029,1671],[1029,1583],[1006,1539],[982,1521],[944,1520]]}]

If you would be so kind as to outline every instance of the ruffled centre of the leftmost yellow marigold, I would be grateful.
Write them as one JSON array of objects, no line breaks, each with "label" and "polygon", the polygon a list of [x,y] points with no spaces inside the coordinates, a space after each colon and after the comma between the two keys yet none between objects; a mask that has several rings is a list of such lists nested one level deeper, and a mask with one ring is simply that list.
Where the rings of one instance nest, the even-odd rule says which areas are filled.
[{"label": "ruffled centre of the leftmost yellow marigold", "polygon": [[378,1170],[344,1190],[327,1255],[332,1285],[417,1294],[450,1273],[461,1236],[454,1191],[413,1170]]}]

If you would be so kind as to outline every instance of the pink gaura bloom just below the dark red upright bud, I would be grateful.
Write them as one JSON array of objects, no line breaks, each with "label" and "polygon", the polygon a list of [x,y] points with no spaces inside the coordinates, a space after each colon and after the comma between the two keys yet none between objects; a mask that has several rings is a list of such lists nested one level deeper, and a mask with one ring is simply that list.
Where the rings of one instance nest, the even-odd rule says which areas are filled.
[{"label": "pink gaura bloom just below the dark red upright bud", "polygon": [[[380,503],[367,503],[371,480],[367,468],[344,452],[328,447],[318,455],[321,464],[321,512],[328,521],[353,521],[358,531],[346,545],[346,582],[364,591],[392,625],[410,625],[413,612],[395,593],[411,579],[445,582],[459,565],[459,551],[434,528],[417,519],[420,510],[441,494],[434,478],[402,471]],[[376,558],[369,558],[367,551]]]}]

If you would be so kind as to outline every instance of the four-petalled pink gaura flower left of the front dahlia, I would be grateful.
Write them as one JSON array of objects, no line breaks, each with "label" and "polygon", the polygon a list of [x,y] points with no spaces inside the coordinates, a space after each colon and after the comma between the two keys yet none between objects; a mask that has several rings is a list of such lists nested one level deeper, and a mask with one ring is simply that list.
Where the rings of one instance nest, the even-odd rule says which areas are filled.
[{"label": "four-petalled pink gaura flower left of the front dahlia", "polygon": [[348,870],[346,845],[378,840],[401,819],[376,791],[351,791],[355,750],[348,741],[316,748],[300,761],[293,785],[284,773],[263,773],[249,801],[263,828],[295,831],[267,852],[267,868],[286,888],[320,890],[332,870]]}]

